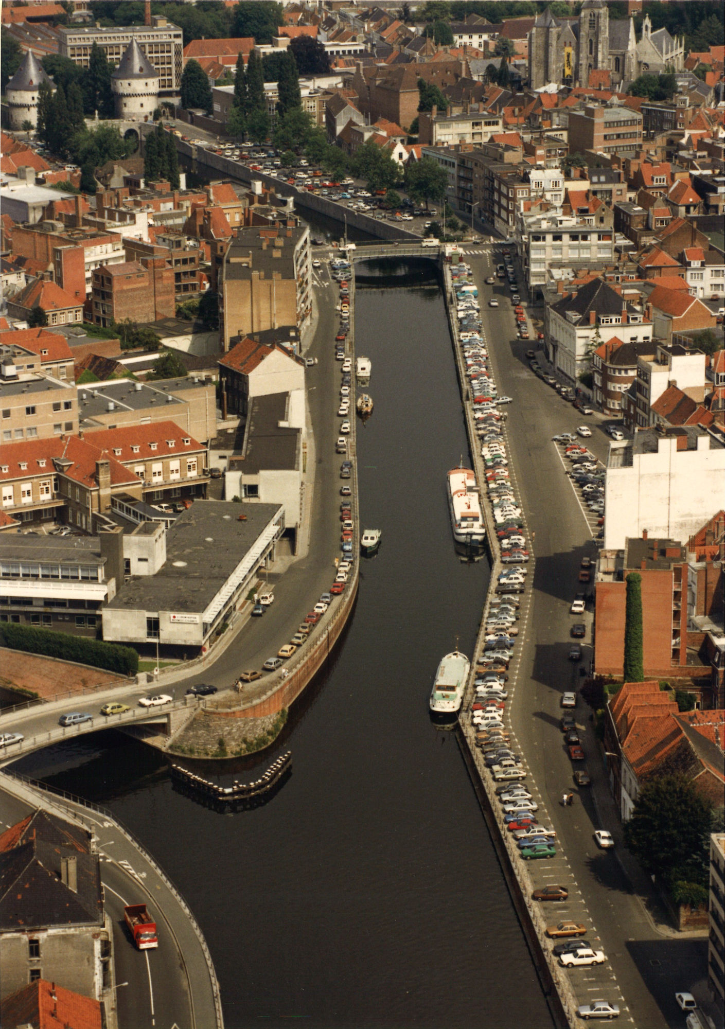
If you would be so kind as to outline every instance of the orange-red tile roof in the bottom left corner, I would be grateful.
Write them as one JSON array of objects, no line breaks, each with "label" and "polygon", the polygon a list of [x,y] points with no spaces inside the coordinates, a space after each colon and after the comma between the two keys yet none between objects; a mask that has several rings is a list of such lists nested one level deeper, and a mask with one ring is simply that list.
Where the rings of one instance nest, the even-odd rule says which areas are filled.
[{"label": "orange-red tile roof in the bottom left corner", "polygon": [[[32,7],[25,9],[33,10]],[[28,983],[4,997],[0,1003],[0,1018],[4,1026],[28,1025],[33,1029],[56,1029],[60,1026],[101,1029],[105,1024],[101,1018],[100,1001],[44,979]]]}]

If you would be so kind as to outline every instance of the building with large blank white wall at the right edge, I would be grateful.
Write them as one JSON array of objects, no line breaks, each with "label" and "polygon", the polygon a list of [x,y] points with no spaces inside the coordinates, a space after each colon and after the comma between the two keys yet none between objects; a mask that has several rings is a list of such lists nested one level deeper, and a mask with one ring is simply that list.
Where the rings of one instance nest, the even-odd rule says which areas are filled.
[{"label": "building with large blank white wall at the right edge", "polygon": [[612,443],[605,487],[605,549],[627,537],[687,542],[725,497],[725,443],[699,426],[640,429]]}]

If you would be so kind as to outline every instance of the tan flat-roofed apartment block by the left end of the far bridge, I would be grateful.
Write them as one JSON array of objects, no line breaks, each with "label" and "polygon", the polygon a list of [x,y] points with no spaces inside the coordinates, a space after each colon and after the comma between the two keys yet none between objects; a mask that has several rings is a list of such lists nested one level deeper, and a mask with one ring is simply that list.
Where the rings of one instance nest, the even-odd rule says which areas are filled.
[{"label": "tan flat-roofed apartment block by the left end of the far bridge", "polygon": [[241,228],[221,268],[219,321],[222,349],[234,336],[295,326],[312,312],[310,233],[291,221]]}]

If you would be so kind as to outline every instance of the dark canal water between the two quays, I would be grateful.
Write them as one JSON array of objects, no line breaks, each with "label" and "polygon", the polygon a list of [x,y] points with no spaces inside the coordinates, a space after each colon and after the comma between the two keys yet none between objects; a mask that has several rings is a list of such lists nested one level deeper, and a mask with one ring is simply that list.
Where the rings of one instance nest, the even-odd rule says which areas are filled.
[{"label": "dark canal water between the two quays", "polygon": [[428,716],[442,654],[456,636],[472,651],[488,567],[453,549],[445,473],[468,443],[425,268],[402,269],[416,288],[357,289],[375,401],[358,432],[362,522],[383,543],[330,667],[291,712],[279,793],[216,814],[112,733],[55,765],[24,762],[105,803],[170,874],[206,933],[229,1029],[552,1025],[455,734]]}]

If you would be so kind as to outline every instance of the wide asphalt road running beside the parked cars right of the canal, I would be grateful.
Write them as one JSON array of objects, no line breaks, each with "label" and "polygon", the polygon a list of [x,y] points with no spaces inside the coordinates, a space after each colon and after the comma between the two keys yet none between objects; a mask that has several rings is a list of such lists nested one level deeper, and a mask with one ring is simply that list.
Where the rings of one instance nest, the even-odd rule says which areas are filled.
[{"label": "wide asphalt road running beside the parked cars right of the canal", "polygon": [[[563,809],[559,804],[562,792],[573,788],[573,767],[559,730],[560,698],[565,690],[577,690],[581,682],[578,666],[567,660],[571,625],[581,619],[571,615],[568,607],[580,589],[581,559],[595,556],[596,547],[551,437],[573,432],[586,422],[592,429],[586,445],[606,462],[609,437],[600,427],[603,419],[597,415],[583,418],[530,371],[525,351],[536,344],[516,340],[508,288],[499,280],[494,286],[485,285],[486,276],[493,274],[502,258],[497,254],[491,258],[489,254],[477,257],[472,253],[465,259],[472,264],[479,287],[498,391],[514,400],[507,407],[509,445],[537,558],[528,631],[519,653],[512,726],[582,891],[580,910],[583,904],[591,924],[596,926],[600,938],[597,946],[607,954],[633,1024],[637,1029],[681,1027],[683,1015],[674,995],[676,990],[692,990],[703,980],[706,952],[702,941],[671,939],[653,927],[616,853],[602,852],[594,844],[593,832],[602,825],[591,792],[577,790],[574,807]],[[499,298],[497,309],[487,306],[491,291]],[[582,641],[585,664],[591,658],[591,612],[587,623],[587,640]],[[576,714],[588,757],[587,771],[600,781],[606,773],[593,739],[589,709],[581,700]],[[544,862],[537,864],[543,867]],[[552,873],[551,882],[564,882],[555,875]],[[550,913],[552,922],[566,917],[563,906],[550,908],[554,909]],[[594,986],[587,982],[589,977]],[[602,980],[588,969],[572,972],[572,980],[580,1000],[588,990],[597,991],[594,996],[607,996],[601,992]]]}]

